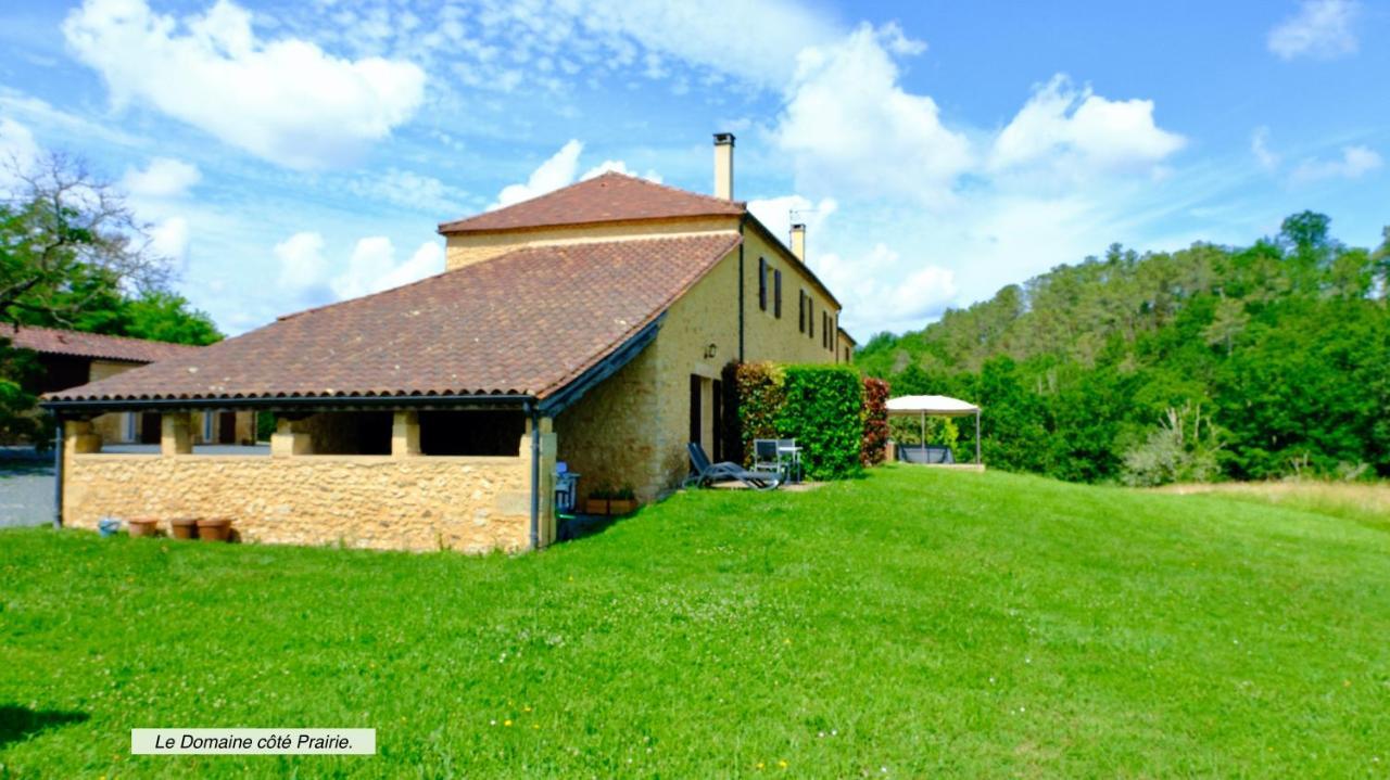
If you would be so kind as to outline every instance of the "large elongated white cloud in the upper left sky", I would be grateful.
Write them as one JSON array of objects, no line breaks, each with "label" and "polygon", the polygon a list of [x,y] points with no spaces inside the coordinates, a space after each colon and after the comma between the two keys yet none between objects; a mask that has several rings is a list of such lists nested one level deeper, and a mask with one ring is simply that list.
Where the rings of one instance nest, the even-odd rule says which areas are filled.
[{"label": "large elongated white cloud in the upper left sky", "polygon": [[143,0],[88,0],[63,32],[115,105],[146,103],[292,168],[353,160],[424,96],[425,75],[410,62],[342,60],[292,37],[263,42],[229,0],[183,19]]}]

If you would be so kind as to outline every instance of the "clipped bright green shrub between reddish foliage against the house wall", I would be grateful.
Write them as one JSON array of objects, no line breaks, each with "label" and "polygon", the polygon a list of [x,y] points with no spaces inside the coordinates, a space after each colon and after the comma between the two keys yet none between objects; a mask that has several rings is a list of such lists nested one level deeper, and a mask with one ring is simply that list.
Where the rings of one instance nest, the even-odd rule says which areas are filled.
[{"label": "clipped bright green shrub between reddish foliage against the house wall", "polygon": [[859,473],[865,434],[859,372],[834,365],[788,366],[783,391],[785,402],[776,430],[781,439],[796,440],[806,476],[842,479]]}]

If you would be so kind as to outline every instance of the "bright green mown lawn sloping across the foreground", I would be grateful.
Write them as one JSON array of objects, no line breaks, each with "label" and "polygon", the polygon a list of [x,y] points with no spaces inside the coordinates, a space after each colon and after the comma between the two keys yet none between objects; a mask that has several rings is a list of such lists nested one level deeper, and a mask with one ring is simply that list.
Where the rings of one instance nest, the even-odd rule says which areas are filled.
[{"label": "bright green mown lawn sloping across the foreground", "polygon": [[10,530],[0,607],[0,776],[1390,769],[1390,525],[1220,495],[887,468],[481,559]]}]

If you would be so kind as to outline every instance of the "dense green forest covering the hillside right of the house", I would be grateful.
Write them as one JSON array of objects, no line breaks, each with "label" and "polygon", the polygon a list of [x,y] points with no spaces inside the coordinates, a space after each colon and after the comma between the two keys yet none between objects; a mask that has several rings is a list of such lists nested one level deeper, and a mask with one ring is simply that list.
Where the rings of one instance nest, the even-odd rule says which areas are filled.
[{"label": "dense green forest covering the hillside right of the house", "polygon": [[[894,396],[980,404],[991,468],[1129,484],[1390,477],[1387,293],[1390,228],[1348,247],[1305,211],[1250,247],[1112,246],[881,333],[856,361]],[[959,448],[973,436],[927,432]]]}]

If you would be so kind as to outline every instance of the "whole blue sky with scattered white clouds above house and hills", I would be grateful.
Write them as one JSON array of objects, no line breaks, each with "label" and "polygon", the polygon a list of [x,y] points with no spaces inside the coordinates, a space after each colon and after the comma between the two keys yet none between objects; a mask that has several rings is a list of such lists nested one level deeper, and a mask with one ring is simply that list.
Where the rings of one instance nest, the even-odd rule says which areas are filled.
[{"label": "whole blue sky with scattered white clouds above house and hills", "polygon": [[85,155],[239,333],[442,269],[435,225],[616,168],[735,196],[866,337],[1112,241],[1390,223],[1390,4],[749,0],[0,8],[0,154]]}]

